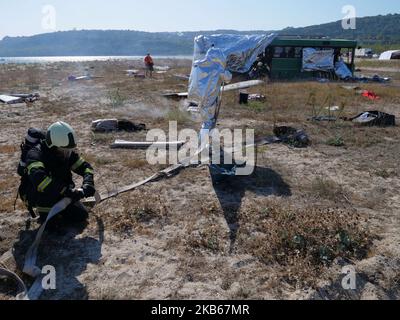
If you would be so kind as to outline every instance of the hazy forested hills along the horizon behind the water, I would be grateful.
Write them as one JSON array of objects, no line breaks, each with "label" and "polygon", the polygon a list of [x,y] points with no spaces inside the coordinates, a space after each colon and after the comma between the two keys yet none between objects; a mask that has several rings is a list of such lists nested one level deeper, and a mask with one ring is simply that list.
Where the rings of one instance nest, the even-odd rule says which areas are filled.
[{"label": "hazy forested hills along the horizon behind the water", "polygon": [[[0,56],[190,55],[193,38],[213,33],[269,33],[271,31],[215,30],[148,33],[129,30],[80,30],[31,37],[5,37]],[[400,44],[400,14],[357,19],[356,30],[344,30],[342,22],[275,31],[282,35],[329,36],[356,39],[361,45],[382,48]]]}]

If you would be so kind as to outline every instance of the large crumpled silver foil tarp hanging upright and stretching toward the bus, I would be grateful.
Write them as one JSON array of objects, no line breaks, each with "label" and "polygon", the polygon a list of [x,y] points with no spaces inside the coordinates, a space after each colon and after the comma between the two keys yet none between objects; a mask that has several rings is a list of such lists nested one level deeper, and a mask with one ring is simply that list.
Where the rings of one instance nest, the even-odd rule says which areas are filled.
[{"label": "large crumpled silver foil tarp hanging upright and stretching toward the bus", "polygon": [[[189,79],[188,98],[197,103],[203,125],[200,131],[199,152],[209,149],[208,138],[216,127],[221,86],[232,79],[231,72],[249,72],[259,55],[276,35],[212,35],[195,38],[192,72]],[[235,175],[236,166],[214,170],[223,175]]]}]

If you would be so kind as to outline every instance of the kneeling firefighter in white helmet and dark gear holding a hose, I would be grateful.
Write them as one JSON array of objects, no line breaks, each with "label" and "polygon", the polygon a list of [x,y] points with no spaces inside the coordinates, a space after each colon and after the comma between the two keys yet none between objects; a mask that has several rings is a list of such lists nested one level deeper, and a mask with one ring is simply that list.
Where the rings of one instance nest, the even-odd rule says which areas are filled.
[{"label": "kneeling firefighter in white helmet and dark gear holding a hose", "polygon": [[[65,122],[52,124],[46,139],[32,148],[26,157],[30,188],[27,200],[36,208],[44,222],[51,208],[61,199],[71,198],[71,204],[56,218],[67,222],[86,222],[88,212],[79,202],[95,195],[92,166],[74,150],[77,139],[72,127]],[[72,172],[83,177],[80,189],[75,188]]]}]

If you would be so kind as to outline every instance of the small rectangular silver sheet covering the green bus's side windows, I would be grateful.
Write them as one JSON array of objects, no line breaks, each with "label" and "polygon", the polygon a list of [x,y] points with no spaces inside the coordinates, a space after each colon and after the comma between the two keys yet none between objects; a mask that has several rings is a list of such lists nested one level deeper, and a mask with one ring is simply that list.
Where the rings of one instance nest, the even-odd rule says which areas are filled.
[{"label": "small rectangular silver sheet covering the green bus's side windows", "polygon": [[331,71],[334,70],[335,51],[318,50],[315,48],[303,49],[303,71]]}]

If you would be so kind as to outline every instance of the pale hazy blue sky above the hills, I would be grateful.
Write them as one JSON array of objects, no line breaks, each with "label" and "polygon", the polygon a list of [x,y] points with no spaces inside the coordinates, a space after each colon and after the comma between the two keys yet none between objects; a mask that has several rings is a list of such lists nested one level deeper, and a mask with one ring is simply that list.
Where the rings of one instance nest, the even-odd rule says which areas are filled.
[{"label": "pale hazy blue sky above the hills", "polygon": [[357,16],[400,13],[399,0],[0,0],[0,39],[74,28],[282,29],[340,20],[345,5]]}]

